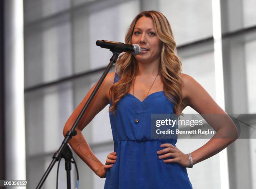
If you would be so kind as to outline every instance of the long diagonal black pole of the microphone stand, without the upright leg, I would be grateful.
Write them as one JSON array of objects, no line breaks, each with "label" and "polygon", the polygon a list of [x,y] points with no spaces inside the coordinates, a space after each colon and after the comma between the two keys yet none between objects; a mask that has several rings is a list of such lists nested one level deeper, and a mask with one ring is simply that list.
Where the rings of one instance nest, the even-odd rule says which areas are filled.
[{"label": "long diagonal black pole of the microphone stand, without the upright leg", "polygon": [[60,157],[61,157],[61,153],[64,149],[64,147],[67,146],[69,140],[77,134],[76,132],[76,128],[78,126],[78,123],[80,122],[80,120],[82,119],[84,112],[87,110],[87,108],[89,107],[90,103],[92,102],[92,99],[94,98],[95,94],[97,93],[97,91],[100,88],[100,85],[102,84],[103,80],[105,79],[106,75],[108,74],[109,70],[111,69],[111,67],[113,66],[113,64],[115,64],[116,60],[118,59],[120,52],[114,52],[113,51],[113,56],[110,58],[110,62],[108,64],[108,67],[105,69],[104,73],[102,74],[102,76],[100,77],[99,82],[97,83],[95,89],[92,91],[92,94],[90,95],[89,99],[87,100],[87,102],[84,104],[84,107],[82,109],[82,111],[79,113],[76,121],[74,122],[72,128],[70,131],[67,132],[64,140],[62,141],[61,146],[59,147],[59,149],[57,150],[57,152],[54,153],[54,156],[52,157],[52,161],[49,165],[49,167],[46,169],[46,172],[44,173],[43,177],[41,178],[40,182],[38,183],[36,189],[41,189],[42,185],[44,184],[46,178],[48,177],[49,173],[51,172],[51,169],[54,167],[54,164],[56,163],[56,161],[59,161]]}]

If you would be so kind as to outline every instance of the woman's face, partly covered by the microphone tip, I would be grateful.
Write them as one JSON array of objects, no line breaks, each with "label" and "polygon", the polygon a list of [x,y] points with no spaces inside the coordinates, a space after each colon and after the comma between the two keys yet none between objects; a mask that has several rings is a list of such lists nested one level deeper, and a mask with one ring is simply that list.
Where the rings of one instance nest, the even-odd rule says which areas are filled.
[{"label": "woman's face, partly covered by the microphone tip", "polygon": [[161,41],[156,36],[152,18],[143,16],[137,20],[131,43],[142,48],[141,54],[135,56],[138,62],[160,61]]}]

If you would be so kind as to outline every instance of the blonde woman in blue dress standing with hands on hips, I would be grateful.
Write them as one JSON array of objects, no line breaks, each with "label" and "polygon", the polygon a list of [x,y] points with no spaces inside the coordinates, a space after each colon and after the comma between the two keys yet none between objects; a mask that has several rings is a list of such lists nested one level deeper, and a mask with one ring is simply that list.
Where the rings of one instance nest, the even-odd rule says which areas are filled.
[{"label": "blonde woman in blue dress standing with hands on hips", "polygon": [[[141,53],[120,55],[115,72],[105,77],[69,144],[95,174],[106,177],[104,189],[191,189],[186,167],[212,157],[234,142],[236,127],[231,121],[214,124],[204,117],[212,123],[215,137],[189,154],[175,146],[177,138],[151,139],[151,114],[180,115],[187,106],[200,114],[226,113],[199,83],[181,72],[171,26],[160,12],[138,14],[125,43],[140,45]],[[64,134],[95,86],[67,120]],[[108,104],[115,152],[108,155],[104,165],[81,131]],[[218,137],[228,133],[233,133],[233,137]]]}]

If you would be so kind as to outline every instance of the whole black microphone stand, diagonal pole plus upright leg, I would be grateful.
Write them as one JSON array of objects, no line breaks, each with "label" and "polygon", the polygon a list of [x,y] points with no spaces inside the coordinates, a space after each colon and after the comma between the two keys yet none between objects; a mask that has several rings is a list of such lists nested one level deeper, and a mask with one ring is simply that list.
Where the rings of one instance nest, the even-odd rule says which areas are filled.
[{"label": "whole black microphone stand, diagonal pole plus upright leg", "polygon": [[[54,167],[54,164],[56,163],[56,161],[59,161],[59,159],[61,159],[62,157],[64,157],[65,159],[65,168],[67,171],[67,188],[70,189],[71,188],[71,182],[70,182],[70,170],[71,170],[71,158],[72,158],[72,152],[69,148],[69,146],[67,145],[69,140],[75,136],[77,134],[76,132],[76,128],[78,126],[78,123],[80,122],[80,120],[82,119],[84,112],[87,110],[87,108],[89,107],[90,103],[92,102],[92,99],[94,98],[95,94],[97,93],[97,91],[100,88],[100,85],[102,84],[103,80],[105,79],[106,75],[108,74],[109,70],[111,69],[111,67],[113,66],[113,64],[115,64],[115,62],[118,59],[118,56],[120,55],[121,51],[117,51],[115,50],[115,48],[110,50],[111,52],[113,52],[112,57],[110,58],[110,62],[108,64],[108,67],[105,69],[105,71],[103,72],[102,76],[100,77],[99,82],[97,83],[95,89],[92,91],[92,94],[90,95],[89,99],[87,100],[87,102],[84,104],[84,107],[82,109],[82,111],[79,113],[76,121],[74,122],[72,128],[70,131],[67,132],[67,134],[65,135],[64,140],[61,143],[61,146],[59,147],[59,149],[54,153],[53,155],[53,159],[49,165],[49,167],[46,169],[46,172],[44,173],[43,177],[41,178],[40,182],[38,183],[36,189],[41,189],[42,185],[44,184],[46,178],[48,177],[49,173],[51,172],[51,169]],[[70,154],[71,152],[71,154]],[[71,156],[71,157],[70,157]],[[67,158],[69,157],[69,158]]]}]

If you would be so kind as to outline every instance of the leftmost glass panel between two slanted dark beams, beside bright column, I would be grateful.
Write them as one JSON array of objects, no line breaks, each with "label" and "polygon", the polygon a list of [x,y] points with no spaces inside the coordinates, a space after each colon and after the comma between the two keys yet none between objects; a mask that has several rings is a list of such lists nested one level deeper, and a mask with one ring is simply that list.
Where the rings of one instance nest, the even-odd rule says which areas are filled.
[{"label": "leftmost glass panel between two slanted dark beams, beside bright column", "polygon": [[25,87],[72,74],[69,15],[25,32]]}]

